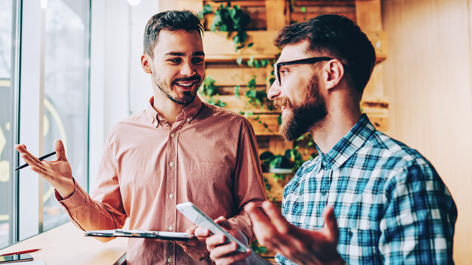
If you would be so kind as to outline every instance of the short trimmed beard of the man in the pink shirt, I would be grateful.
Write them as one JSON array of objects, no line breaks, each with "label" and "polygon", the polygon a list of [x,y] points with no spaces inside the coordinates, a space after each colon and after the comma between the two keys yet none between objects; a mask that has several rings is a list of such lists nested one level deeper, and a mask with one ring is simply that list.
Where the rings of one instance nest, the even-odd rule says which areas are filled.
[{"label": "short trimmed beard of the man in the pink shirt", "polygon": [[[189,77],[175,78],[174,80],[172,80],[172,82],[166,83],[165,81],[160,80],[156,73],[152,74],[152,78],[154,79],[154,83],[156,83],[157,87],[159,87],[160,91],[168,99],[172,100],[172,102],[175,102],[179,105],[188,105],[194,101],[195,97],[197,96],[197,91],[200,88],[200,85],[202,85],[204,79],[202,78],[202,76],[195,74]],[[196,86],[194,90],[183,91],[181,96],[177,95],[177,93],[173,93],[174,95],[172,95],[172,84],[185,81],[195,81],[196,83],[198,83],[198,86]]]}]

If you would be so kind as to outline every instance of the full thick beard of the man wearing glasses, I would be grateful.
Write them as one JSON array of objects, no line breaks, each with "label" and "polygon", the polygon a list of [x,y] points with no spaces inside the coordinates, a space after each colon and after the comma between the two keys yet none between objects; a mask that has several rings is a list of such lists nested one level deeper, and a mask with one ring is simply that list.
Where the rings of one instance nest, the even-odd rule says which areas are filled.
[{"label": "full thick beard of the man wearing glasses", "polygon": [[286,141],[293,141],[311,127],[316,127],[328,115],[326,101],[320,95],[318,76],[313,76],[305,88],[306,100],[300,104],[292,104],[287,97],[274,99],[274,105],[278,108],[286,107],[287,118],[282,119],[280,135]]}]

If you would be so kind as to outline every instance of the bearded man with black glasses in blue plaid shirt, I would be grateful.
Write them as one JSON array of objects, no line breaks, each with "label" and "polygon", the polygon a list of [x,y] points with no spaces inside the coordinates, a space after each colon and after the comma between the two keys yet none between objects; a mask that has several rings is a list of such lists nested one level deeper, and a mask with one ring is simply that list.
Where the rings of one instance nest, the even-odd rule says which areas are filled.
[{"label": "bearded man with black glasses in blue plaid shirt", "polygon": [[[418,151],[361,113],[375,65],[367,36],[346,17],[322,15],[284,27],[274,43],[283,50],[268,97],[282,109],[281,135],[311,132],[319,156],[285,187],[282,213],[268,201],[270,220],[245,207],[261,245],[284,265],[453,264],[457,209],[445,184]],[[216,222],[247,243],[226,219]],[[270,264],[223,242],[206,239],[216,264]]]}]

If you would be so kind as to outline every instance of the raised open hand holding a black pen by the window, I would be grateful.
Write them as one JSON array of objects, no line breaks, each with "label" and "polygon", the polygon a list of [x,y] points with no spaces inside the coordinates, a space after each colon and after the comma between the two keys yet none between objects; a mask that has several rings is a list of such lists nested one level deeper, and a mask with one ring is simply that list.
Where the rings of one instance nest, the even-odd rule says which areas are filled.
[{"label": "raised open hand holding a black pen by the window", "polygon": [[55,161],[40,161],[26,150],[24,144],[15,145],[15,149],[20,153],[20,157],[31,166],[31,170],[47,180],[56,189],[62,199],[69,198],[74,190],[74,180],[72,179],[72,169],[66,158],[66,152],[62,141],[54,141],[57,159]]}]

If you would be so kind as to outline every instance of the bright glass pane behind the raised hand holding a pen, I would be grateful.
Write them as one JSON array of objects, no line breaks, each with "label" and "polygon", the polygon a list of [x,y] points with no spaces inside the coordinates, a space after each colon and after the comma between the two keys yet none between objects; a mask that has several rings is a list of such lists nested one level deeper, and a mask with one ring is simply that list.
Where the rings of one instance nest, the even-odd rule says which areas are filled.
[{"label": "bright glass pane behind the raised hand holding a pen", "polygon": [[[48,0],[44,67],[44,153],[61,139],[73,176],[87,189],[89,0]],[[43,230],[69,220],[44,181]]]}]

